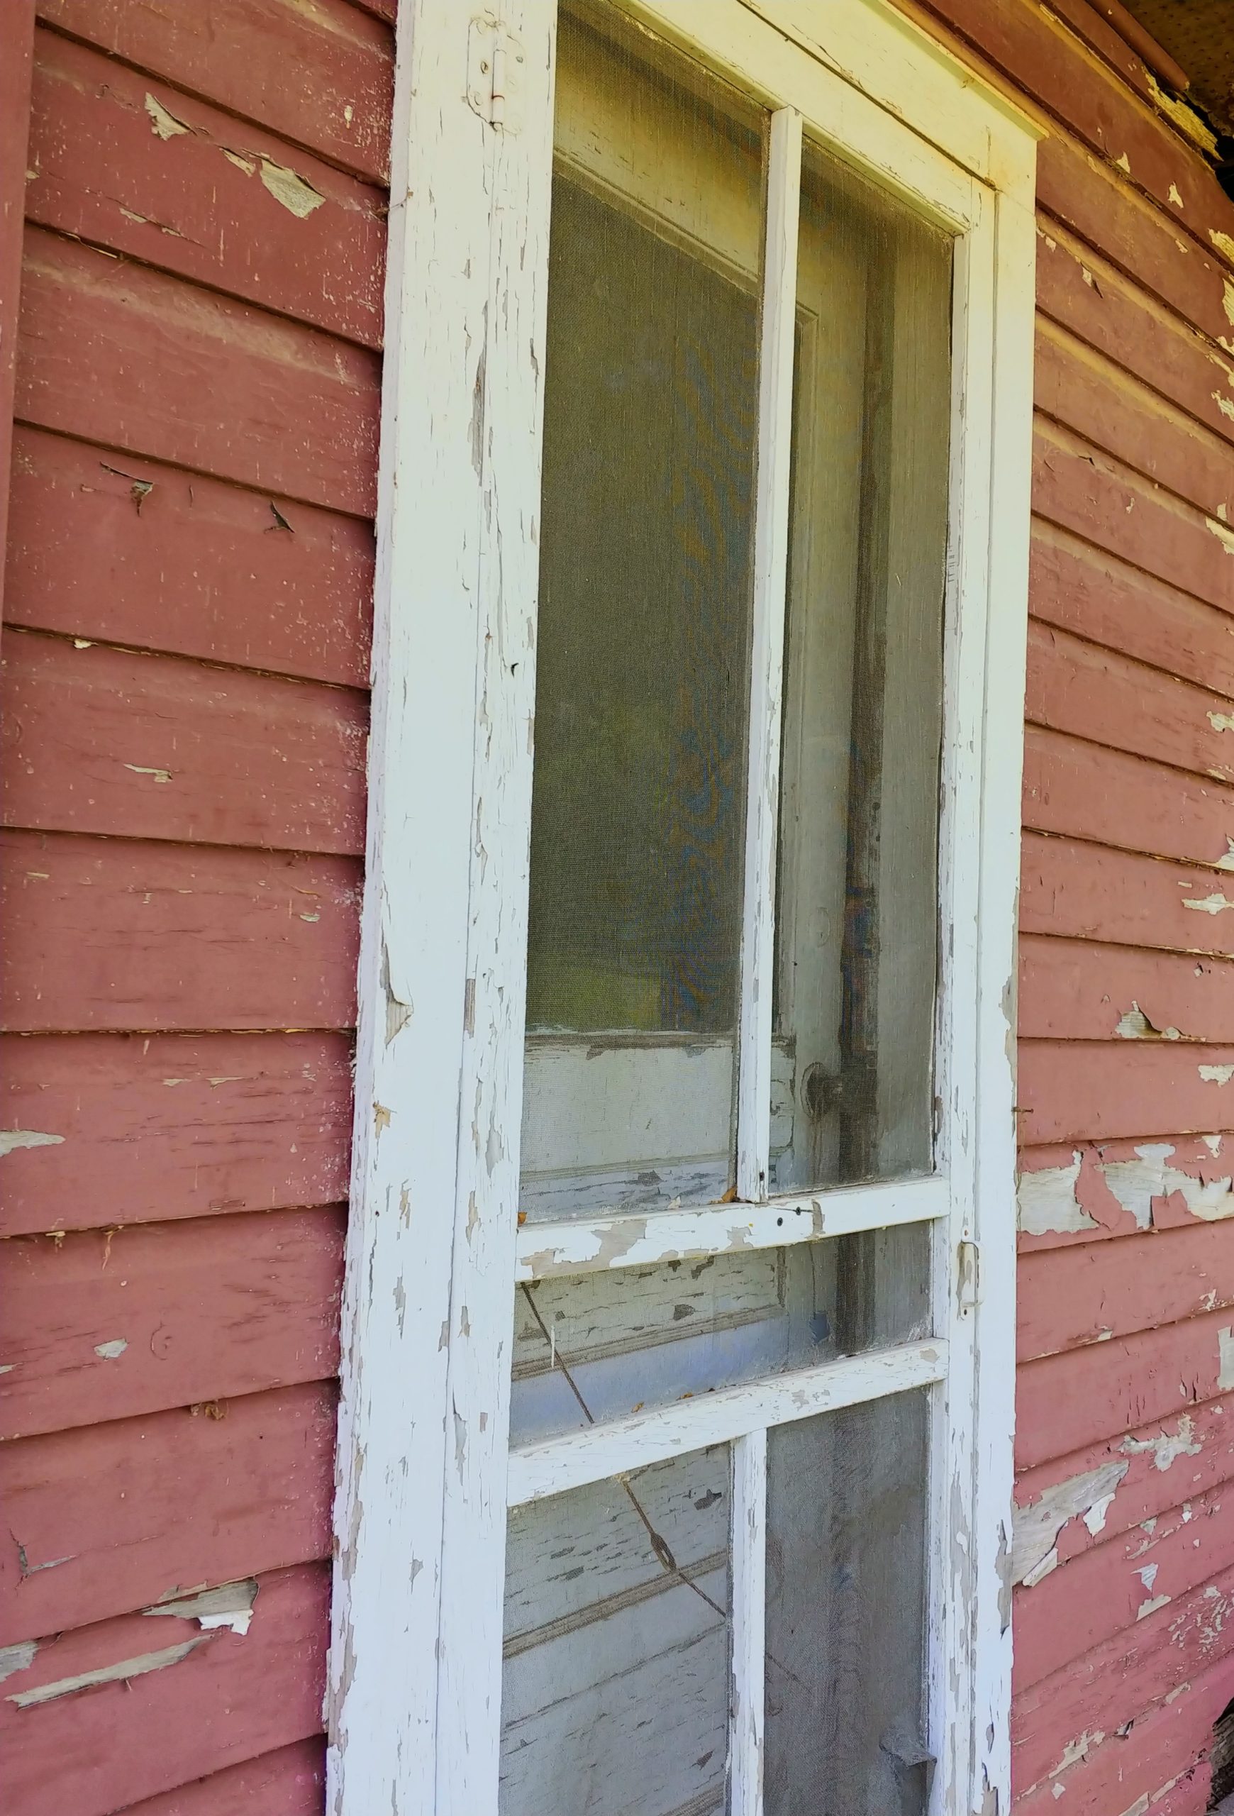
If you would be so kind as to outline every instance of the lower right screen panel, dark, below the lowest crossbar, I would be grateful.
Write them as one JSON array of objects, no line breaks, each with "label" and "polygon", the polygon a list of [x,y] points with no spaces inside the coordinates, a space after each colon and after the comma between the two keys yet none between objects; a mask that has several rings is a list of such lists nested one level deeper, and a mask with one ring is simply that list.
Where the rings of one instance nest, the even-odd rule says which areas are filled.
[{"label": "lower right screen panel, dark, below the lowest crossbar", "polygon": [[768,1433],[766,1816],[926,1816],[929,1402]]}]

